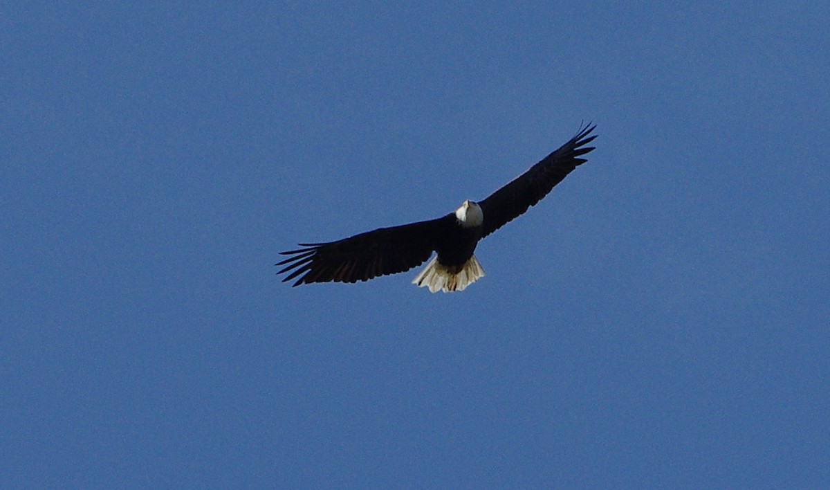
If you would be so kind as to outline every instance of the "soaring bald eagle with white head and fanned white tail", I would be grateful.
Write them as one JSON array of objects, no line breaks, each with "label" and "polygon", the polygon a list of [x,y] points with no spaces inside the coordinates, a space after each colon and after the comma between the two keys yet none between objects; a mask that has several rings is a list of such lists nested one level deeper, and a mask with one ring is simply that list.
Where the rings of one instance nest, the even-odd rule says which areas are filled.
[{"label": "soaring bald eagle with white head and fanned white tail", "polygon": [[[278,262],[291,272],[283,282],[300,277],[294,286],[311,282],[358,282],[408,271],[437,252],[413,284],[430,292],[463,291],[484,276],[473,252],[481,238],[525,213],[587,160],[586,146],[596,125],[587,125],[553,153],[480,202],[466,200],[442,218],[378,228],[336,242],[300,243],[300,249],[281,252],[291,256]],[[293,269],[293,271],[292,271]]]}]

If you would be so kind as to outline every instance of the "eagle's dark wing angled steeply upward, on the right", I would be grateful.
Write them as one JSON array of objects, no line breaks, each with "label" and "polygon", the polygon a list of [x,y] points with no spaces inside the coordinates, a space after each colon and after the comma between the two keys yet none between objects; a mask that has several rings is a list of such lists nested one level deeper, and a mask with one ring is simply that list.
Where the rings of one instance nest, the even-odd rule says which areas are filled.
[{"label": "eagle's dark wing angled steeply upward, on the right", "polygon": [[490,197],[481,201],[481,211],[484,213],[484,223],[481,238],[518,218],[527,208],[544,198],[554,185],[562,182],[571,170],[585,163],[586,159],[578,158],[593,149],[586,147],[597,135],[588,136],[596,125],[580,128],[568,143],[544,157],[542,161],[530,167],[524,174],[513,179],[510,184],[497,190]]}]

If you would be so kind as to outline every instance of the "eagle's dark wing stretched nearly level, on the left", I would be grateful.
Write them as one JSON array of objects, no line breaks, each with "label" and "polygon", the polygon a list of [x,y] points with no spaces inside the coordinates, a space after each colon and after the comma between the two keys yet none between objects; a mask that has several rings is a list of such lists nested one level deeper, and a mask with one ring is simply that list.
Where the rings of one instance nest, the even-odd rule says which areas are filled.
[{"label": "eagle's dark wing stretched nearly level, on the left", "polygon": [[281,252],[290,255],[277,266],[286,266],[277,274],[289,272],[282,281],[303,274],[294,286],[311,282],[358,282],[373,277],[404,272],[426,262],[436,247],[444,218],[378,228],[329,243],[300,243],[299,250]]}]

